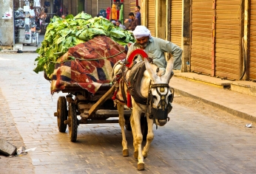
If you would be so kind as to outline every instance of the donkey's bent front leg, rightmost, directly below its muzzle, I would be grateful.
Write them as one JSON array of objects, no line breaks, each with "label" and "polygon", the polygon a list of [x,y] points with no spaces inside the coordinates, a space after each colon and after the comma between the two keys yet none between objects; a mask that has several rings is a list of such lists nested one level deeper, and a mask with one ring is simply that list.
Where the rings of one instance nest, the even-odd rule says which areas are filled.
[{"label": "donkey's bent front leg, rightmost, directly below its muzzle", "polygon": [[149,152],[149,147],[151,145],[151,142],[154,139],[153,120],[149,119],[149,117],[146,116],[146,121],[147,121],[147,126],[148,126],[148,132],[147,132],[147,136],[146,136],[146,145],[142,151],[142,155],[144,156],[144,158],[146,158],[147,153]]}]

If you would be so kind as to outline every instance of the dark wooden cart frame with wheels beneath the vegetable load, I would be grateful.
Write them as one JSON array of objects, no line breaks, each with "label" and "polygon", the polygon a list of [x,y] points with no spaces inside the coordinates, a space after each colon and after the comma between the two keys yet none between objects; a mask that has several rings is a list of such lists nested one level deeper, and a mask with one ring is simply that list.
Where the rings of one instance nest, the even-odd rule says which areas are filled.
[{"label": "dark wooden cart frame with wheels beneath the vegetable load", "polygon": [[[70,141],[76,142],[78,125],[80,124],[102,124],[102,123],[118,123],[118,111],[114,107],[111,97],[115,90],[115,86],[103,84],[98,91],[92,95],[86,89],[78,85],[68,85],[63,93],[67,93],[66,97],[58,97],[57,117],[58,130],[64,133],[69,128]],[[124,110],[124,118],[126,120],[127,130],[131,130],[129,124],[129,116],[132,110]],[[80,115],[81,119],[77,116]],[[115,119],[111,119],[115,118]],[[147,134],[146,117],[141,116],[142,133]]]}]

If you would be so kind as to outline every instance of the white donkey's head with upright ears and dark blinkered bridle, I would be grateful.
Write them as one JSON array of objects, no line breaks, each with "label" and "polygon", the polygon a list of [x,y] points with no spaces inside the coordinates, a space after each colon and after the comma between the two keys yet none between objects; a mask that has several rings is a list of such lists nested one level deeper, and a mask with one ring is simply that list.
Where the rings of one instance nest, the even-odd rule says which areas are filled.
[{"label": "white donkey's head with upright ears and dark blinkered bridle", "polygon": [[172,91],[169,88],[169,80],[173,69],[173,60],[167,62],[166,72],[158,76],[152,65],[145,59],[146,70],[149,72],[151,86],[149,89],[149,117],[155,120],[155,124],[163,126],[169,120],[168,113],[172,110]]}]

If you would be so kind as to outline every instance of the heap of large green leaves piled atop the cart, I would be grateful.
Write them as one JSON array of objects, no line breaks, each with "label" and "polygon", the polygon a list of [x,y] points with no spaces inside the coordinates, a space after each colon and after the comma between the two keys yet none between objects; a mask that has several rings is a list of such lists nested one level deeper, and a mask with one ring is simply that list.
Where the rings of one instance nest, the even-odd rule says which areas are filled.
[{"label": "heap of large green leaves piled atop the cart", "polygon": [[107,18],[79,13],[75,17],[67,15],[65,19],[54,16],[44,35],[41,47],[36,50],[39,56],[34,72],[45,72],[48,77],[53,73],[55,61],[64,55],[70,47],[84,43],[96,35],[107,35],[118,44],[134,42],[132,32],[115,27]]}]

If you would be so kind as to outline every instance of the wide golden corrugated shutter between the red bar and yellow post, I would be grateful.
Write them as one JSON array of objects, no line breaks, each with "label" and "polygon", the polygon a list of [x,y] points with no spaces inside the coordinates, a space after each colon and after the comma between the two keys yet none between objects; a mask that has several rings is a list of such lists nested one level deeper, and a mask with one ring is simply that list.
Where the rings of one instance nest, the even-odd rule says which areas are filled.
[{"label": "wide golden corrugated shutter between the red bar and yellow post", "polygon": [[216,3],[215,75],[240,77],[240,1]]}]

